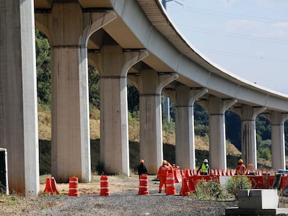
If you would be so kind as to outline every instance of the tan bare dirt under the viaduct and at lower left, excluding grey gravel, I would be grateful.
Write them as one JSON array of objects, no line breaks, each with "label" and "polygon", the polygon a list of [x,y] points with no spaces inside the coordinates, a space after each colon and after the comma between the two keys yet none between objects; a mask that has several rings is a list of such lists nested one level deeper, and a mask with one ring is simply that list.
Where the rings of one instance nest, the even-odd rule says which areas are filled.
[{"label": "tan bare dirt under the viaduct and at lower left, excluding grey gravel", "polygon": [[[51,176],[49,176],[51,177]],[[94,175],[90,183],[78,183],[79,197],[96,196],[99,197],[100,193],[100,177]],[[55,208],[56,206],[62,206],[63,201],[49,201],[51,199],[67,199],[70,185],[69,183],[56,183],[56,188],[60,194],[48,194],[43,193],[46,187],[47,176],[40,176],[40,192],[38,197],[22,197],[21,195],[11,193],[6,196],[0,194],[0,215],[33,215],[32,212],[37,212],[45,208]],[[149,190],[158,190],[159,181],[153,181],[156,176],[149,176],[150,185]],[[139,178],[137,175],[130,177],[127,176],[108,176],[109,179],[109,192],[113,194],[121,194],[122,192],[131,192],[132,194],[138,194]],[[179,187],[179,183],[178,183]],[[113,197],[113,196],[111,196]],[[72,198],[72,197],[70,197]],[[47,201],[48,199],[48,201]],[[38,215],[37,213],[35,215]],[[39,214],[40,215],[40,214]],[[45,215],[58,215],[58,214],[45,214]],[[86,215],[86,214],[85,214]]]}]

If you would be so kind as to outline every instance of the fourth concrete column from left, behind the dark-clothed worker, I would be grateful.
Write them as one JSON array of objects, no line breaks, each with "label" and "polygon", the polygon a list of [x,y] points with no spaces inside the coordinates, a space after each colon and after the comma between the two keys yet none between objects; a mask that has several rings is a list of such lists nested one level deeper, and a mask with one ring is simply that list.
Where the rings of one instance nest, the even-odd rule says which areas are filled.
[{"label": "fourth concrete column from left, behind the dark-clothed worker", "polygon": [[129,76],[139,90],[140,157],[145,159],[149,174],[157,174],[163,160],[161,90],[176,78],[175,73],[158,74],[154,69]]}]

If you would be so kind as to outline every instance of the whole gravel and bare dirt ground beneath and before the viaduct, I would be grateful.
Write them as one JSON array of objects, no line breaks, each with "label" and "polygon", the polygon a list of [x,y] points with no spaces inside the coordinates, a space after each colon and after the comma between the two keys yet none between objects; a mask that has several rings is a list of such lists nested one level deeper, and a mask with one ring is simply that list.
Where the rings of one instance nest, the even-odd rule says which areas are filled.
[{"label": "whole gravel and bare dirt ground beneath and before the viaduct", "polygon": [[[2,205],[1,215],[225,215],[225,208],[237,201],[201,201],[195,194],[180,196],[182,183],[175,183],[177,194],[158,193],[159,182],[149,176],[149,194],[138,195],[138,176],[109,176],[110,196],[99,196],[99,176],[93,183],[79,183],[79,197],[68,197],[69,184],[57,184],[61,195],[41,194],[22,198],[15,206]],[[43,191],[45,185],[40,185]]]}]

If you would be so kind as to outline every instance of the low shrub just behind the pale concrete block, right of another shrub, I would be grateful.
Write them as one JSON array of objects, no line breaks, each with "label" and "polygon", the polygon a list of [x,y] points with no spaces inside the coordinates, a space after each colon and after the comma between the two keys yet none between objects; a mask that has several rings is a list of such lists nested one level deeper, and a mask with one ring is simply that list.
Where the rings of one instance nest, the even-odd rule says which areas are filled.
[{"label": "low shrub just behind the pale concrete block, right of another shrub", "polygon": [[251,187],[252,184],[247,176],[234,176],[229,178],[225,185],[227,192],[234,194],[235,197],[237,197],[239,190],[246,190],[250,189]]}]

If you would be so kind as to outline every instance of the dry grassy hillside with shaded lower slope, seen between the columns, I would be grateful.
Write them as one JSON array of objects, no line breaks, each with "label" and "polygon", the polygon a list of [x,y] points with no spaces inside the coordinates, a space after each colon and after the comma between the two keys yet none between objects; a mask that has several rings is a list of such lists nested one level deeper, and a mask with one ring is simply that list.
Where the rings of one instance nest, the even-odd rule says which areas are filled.
[{"label": "dry grassy hillside with shaded lower slope, seen between the columns", "polygon": [[[90,144],[91,144],[91,167],[93,172],[101,172],[102,167],[99,162],[99,110],[90,108]],[[51,147],[51,115],[45,108],[38,110],[38,129],[40,144],[40,174],[51,173],[50,147]],[[175,163],[175,134],[163,131],[163,154],[170,163]],[[241,155],[236,147],[230,142],[226,144],[227,165],[235,167]],[[196,165],[199,165],[204,158],[209,157],[209,138],[195,138]],[[131,169],[138,167],[139,160],[139,122],[137,119],[129,117],[129,158]]]}]

